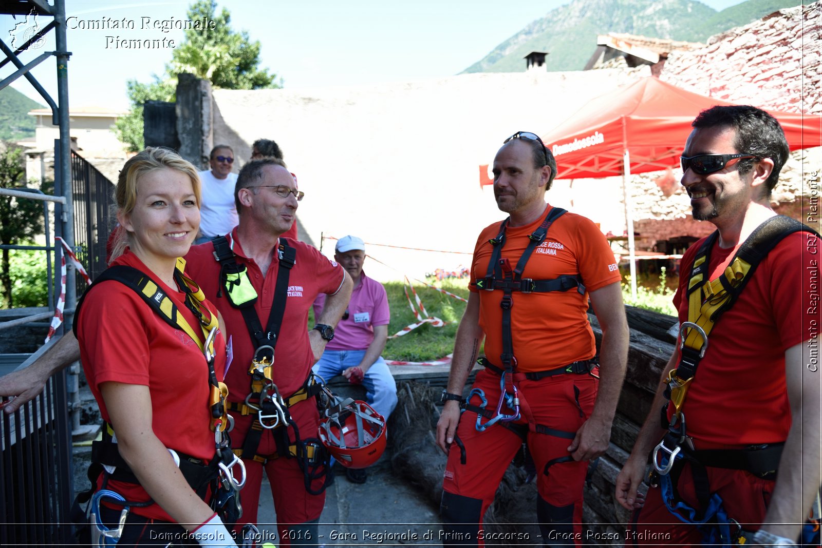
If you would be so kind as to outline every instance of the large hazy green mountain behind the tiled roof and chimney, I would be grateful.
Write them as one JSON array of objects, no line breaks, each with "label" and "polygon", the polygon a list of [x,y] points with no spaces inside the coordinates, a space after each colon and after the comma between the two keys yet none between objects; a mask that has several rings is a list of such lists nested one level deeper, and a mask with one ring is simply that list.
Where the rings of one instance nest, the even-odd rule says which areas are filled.
[{"label": "large hazy green mountain behind the tiled roof and chimney", "polygon": [[[524,57],[547,52],[548,71],[581,71],[609,32],[704,42],[709,36],[746,25],[799,0],[748,0],[716,11],[693,0],[574,0],[498,45],[466,72],[522,72]],[[810,3],[810,2],[806,2]]]}]

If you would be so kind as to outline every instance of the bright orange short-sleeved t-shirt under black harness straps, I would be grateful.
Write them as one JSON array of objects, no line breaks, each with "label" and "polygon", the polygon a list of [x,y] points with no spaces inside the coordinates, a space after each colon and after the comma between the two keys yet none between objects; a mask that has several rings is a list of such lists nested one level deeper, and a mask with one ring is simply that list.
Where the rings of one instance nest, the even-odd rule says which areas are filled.
[{"label": "bright orange short-sleeved t-shirt under black harness straps", "polygon": [[[542,223],[551,209],[528,226],[506,228],[502,258],[511,268],[529,244],[528,236]],[[476,282],[488,272],[493,251],[488,240],[499,234],[500,223],[487,226],[480,233],[473,251],[471,279]],[[546,371],[581,359],[593,358],[596,344],[588,322],[588,291],[621,281],[614,254],[602,232],[586,217],[566,212],[548,228],[545,240],[531,253],[523,277],[552,280],[562,274],[578,275],[585,285],[585,295],[571,289],[564,292],[512,294],[511,336],[516,370]],[[479,325],[485,332],[485,354],[500,366],[502,353],[502,290],[470,290],[479,295]]]}]

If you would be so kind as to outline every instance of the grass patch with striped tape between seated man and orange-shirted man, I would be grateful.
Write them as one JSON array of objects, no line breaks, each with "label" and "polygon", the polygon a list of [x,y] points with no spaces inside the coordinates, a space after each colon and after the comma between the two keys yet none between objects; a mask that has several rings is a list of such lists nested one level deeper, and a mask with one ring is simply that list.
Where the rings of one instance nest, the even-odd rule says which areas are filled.
[{"label": "grass patch with striped tape between seated man and orange-shirted man", "polygon": [[[428,283],[459,295],[463,299],[468,299],[468,278],[428,281]],[[388,335],[391,336],[403,327],[417,322],[417,318],[411,312],[402,281],[388,281],[383,286],[386,288],[388,305],[391,308],[391,322],[388,325]],[[423,362],[442,358],[454,351],[454,340],[457,327],[459,327],[459,320],[462,319],[465,312],[465,303],[419,283],[414,283],[413,288],[417,291],[417,295],[423,302],[427,313],[440,318],[443,322],[446,322],[446,325],[444,327],[432,327],[430,324],[425,324],[406,333],[404,336],[389,339],[386,350],[383,352],[386,359]],[[409,291],[409,295],[411,301],[416,305],[413,293]]]}]

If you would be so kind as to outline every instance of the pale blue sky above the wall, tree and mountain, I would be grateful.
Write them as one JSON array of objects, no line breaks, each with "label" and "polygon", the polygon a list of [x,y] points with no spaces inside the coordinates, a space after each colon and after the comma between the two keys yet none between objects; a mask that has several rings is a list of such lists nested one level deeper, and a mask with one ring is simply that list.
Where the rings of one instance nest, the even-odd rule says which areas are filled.
[{"label": "pale blue sky above the wall, tree and mountain", "polygon": [[[126,108],[126,82],[150,81],[162,74],[171,59],[168,47],[126,49],[120,39],[166,39],[179,43],[182,30],[154,28],[163,21],[186,19],[184,2],[129,2],[127,0],[66,0],[69,20],[68,66],[71,107]],[[231,12],[234,30],[246,30],[261,42],[261,66],[281,76],[289,88],[372,84],[455,75],[477,62],[497,44],[510,38],[566,0],[501,2],[501,0],[273,0],[218,2]],[[714,9],[740,0],[709,0]],[[133,29],[83,29],[87,21],[127,21]],[[0,34],[7,44],[8,30],[24,18],[0,16]],[[50,18],[40,18],[42,27]],[[83,21],[83,22],[81,22]],[[141,28],[144,25],[148,28]],[[71,27],[78,27],[72,29]],[[112,38],[107,38],[112,37]],[[53,32],[44,48],[24,53],[29,62],[53,50]],[[11,74],[11,64],[0,69],[0,79]],[[45,89],[57,97],[53,59],[33,71]],[[25,79],[13,87],[35,98]]]}]

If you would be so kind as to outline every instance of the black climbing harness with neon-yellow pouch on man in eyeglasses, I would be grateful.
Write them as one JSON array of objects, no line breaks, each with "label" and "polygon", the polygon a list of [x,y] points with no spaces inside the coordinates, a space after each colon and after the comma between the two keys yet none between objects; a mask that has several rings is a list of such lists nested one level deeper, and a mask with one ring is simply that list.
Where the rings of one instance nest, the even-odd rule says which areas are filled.
[{"label": "black climbing harness with neon-yellow pouch on man in eyeglasses", "polygon": [[[264,329],[254,307],[258,295],[248,278],[246,266],[237,262],[237,257],[233,252],[233,240],[229,243],[227,236],[220,236],[212,241],[215,249],[214,257],[220,265],[217,296],[219,298],[224,291],[229,303],[242,313],[248,334],[255,346],[254,357],[248,368],[248,375],[251,379],[249,393],[244,401],[227,404],[229,411],[240,416],[256,415],[242,442],[242,448],[235,449],[234,454],[242,459],[254,460],[261,464],[266,464],[269,460],[278,459],[281,456],[296,458],[302,469],[307,491],[318,495],[325,490],[325,484],[329,481],[327,473],[329,457],[318,439],[300,437],[299,429],[289,413],[289,408],[303,400],[318,396],[321,386],[316,383],[312,375],[309,375],[297,392],[285,397],[272,381],[275,348],[288,301],[289,276],[297,260],[297,250],[290,246],[286,239],[279,239],[277,281],[271,312]],[[289,427],[293,431],[293,442],[289,439]],[[264,430],[270,430],[274,435],[277,450],[273,454],[257,453]],[[323,475],[326,476],[326,482],[319,491],[316,491],[311,484],[314,479]]]}]

